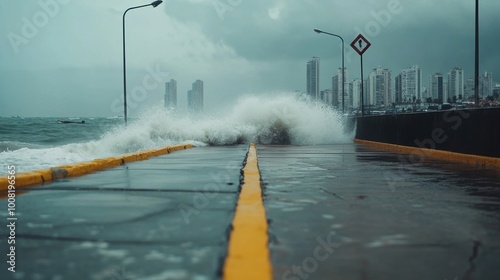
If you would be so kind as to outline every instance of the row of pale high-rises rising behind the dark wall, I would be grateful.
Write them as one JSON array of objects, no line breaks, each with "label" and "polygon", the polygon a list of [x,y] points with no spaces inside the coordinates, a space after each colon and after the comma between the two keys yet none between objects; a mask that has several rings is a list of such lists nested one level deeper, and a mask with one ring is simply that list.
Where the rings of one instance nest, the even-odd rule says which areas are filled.
[{"label": "row of pale high-rises rising behind the dark wall", "polygon": [[[319,57],[314,57],[319,60]],[[366,71],[366,70],[365,70]],[[341,87],[339,77],[342,70],[338,68],[337,74],[332,77],[331,88],[320,89],[322,100],[334,107],[341,108]],[[346,108],[358,108],[360,94],[360,79],[349,80],[349,70],[345,69],[346,77]],[[455,100],[470,100],[474,96],[474,87],[470,88],[472,78],[465,80],[464,70],[460,67],[452,67],[446,75],[434,72],[424,79],[422,69],[418,65],[404,68],[392,78],[392,71],[382,66],[373,68],[364,81],[364,104],[384,106],[386,104],[404,103],[448,103]],[[493,97],[494,89],[500,89],[500,84],[493,82],[493,73],[481,72],[479,76],[479,98]],[[307,79],[307,77],[306,77]],[[340,78],[341,79],[341,78]],[[434,80],[437,79],[437,80]],[[468,82],[468,83],[467,83]],[[331,95],[331,96],[330,96]]]}]

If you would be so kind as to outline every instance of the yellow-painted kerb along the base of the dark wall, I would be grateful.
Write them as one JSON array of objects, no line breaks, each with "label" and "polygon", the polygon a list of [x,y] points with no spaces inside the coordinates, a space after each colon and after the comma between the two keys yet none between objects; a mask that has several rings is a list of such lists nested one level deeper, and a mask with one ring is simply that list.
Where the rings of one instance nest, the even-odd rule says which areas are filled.
[{"label": "yellow-painted kerb along the base of the dark wall", "polygon": [[386,144],[381,142],[359,140],[359,139],[354,139],[354,142],[385,150],[396,151],[404,154],[417,154],[424,158],[429,157],[433,159],[446,160],[451,162],[461,162],[472,165],[479,165],[483,167],[500,168],[500,158],[461,154],[461,153],[433,150],[426,148],[408,147],[408,146]]}]

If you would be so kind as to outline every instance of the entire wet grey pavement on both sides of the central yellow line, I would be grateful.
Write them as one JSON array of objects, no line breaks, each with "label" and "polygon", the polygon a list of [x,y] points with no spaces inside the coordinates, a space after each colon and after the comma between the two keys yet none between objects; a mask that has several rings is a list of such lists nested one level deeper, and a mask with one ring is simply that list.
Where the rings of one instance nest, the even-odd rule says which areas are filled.
[{"label": "entire wet grey pavement on both sides of the central yellow line", "polygon": [[[0,279],[218,279],[247,151],[198,147],[18,191],[16,273],[2,226]],[[257,156],[274,279],[499,279],[500,171],[351,143]]]}]

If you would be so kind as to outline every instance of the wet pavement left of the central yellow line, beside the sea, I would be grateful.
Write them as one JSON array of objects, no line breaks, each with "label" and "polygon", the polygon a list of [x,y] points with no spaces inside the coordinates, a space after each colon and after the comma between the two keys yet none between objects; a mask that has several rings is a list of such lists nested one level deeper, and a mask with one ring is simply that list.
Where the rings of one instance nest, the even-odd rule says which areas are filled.
[{"label": "wet pavement left of the central yellow line, beside the sea", "polygon": [[0,279],[214,279],[247,150],[192,148],[29,188],[17,197],[15,273],[1,230]]}]

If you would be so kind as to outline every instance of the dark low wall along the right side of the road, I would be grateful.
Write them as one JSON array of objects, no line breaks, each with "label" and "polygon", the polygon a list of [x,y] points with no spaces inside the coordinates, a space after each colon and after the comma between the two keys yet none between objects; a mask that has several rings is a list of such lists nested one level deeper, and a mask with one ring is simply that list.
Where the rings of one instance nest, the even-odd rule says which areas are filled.
[{"label": "dark low wall along the right side of the road", "polygon": [[500,108],[358,117],[356,138],[500,157]]}]

